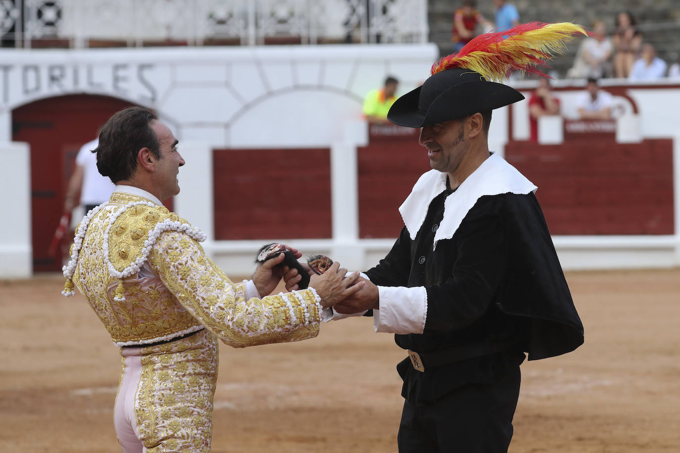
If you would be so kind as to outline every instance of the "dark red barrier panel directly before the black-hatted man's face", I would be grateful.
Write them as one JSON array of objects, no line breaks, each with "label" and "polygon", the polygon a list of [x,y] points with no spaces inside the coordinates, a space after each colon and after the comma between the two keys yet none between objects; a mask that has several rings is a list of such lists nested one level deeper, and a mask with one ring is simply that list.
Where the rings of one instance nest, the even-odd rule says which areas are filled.
[{"label": "dark red barrier panel directly before the black-hatted man's face", "polygon": [[431,170],[420,129],[371,126],[369,145],[357,149],[359,237],[396,238],[404,226],[398,208],[420,175]]}]

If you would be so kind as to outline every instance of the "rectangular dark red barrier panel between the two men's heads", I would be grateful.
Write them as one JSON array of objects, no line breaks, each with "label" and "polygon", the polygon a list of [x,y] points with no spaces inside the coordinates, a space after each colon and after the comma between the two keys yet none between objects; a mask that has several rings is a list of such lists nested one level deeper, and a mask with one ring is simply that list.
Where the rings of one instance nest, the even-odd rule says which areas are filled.
[{"label": "rectangular dark red barrier panel between the two men's heads", "polygon": [[329,149],[213,151],[215,238],[330,238]]}]

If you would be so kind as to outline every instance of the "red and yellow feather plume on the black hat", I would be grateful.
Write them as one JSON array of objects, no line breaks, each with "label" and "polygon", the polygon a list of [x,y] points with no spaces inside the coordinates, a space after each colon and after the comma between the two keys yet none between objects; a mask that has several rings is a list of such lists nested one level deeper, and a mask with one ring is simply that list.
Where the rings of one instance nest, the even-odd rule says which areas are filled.
[{"label": "red and yellow feather plume on the black hat", "polygon": [[460,52],[441,58],[432,65],[430,74],[464,68],[491,81],[501,81],[513,70],[547,77],[536,67],[545,66],[545,60],[554,54],[564,53],[566,42],[576,35],[588,36],[588,32],[571,22],[529,22],[509,30],[485,33],[473,38]]}]

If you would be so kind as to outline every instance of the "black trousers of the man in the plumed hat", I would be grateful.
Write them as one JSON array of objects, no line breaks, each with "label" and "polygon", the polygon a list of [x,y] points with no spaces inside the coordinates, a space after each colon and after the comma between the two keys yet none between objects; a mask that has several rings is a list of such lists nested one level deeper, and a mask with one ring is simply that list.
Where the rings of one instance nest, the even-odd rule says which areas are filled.
[{"label": "black trousers of the man in the plumed hat", "polygon": [[520,396],[520,367],[493,384],[466,384],[431,404],[405,401],[399,453],[504,453]]}]

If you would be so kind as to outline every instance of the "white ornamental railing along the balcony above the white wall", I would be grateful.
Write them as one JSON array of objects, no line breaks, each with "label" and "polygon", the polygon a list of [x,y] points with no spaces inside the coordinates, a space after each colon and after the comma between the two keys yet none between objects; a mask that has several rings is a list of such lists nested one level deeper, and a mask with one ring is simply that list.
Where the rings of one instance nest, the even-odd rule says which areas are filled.
[{"label": "white ornamental railing along the balcony above the white wall", "polygon": [[424,43],[426,0],[0,0],[3,45]]}]

